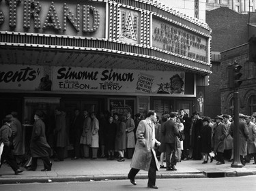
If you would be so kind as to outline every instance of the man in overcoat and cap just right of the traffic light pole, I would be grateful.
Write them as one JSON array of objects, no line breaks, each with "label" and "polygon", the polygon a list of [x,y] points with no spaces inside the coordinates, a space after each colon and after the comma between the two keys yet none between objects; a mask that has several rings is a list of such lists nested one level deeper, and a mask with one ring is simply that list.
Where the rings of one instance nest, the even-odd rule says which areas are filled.
[{"label": "man in overcoat and cap just right of the traffic light pole", "polygon": [[[230,135],[233,137],[233,128],[234,122],[230,125]],[[244,114],[239,114],[239,122],[238,122],[238,129],[239,129],[239,135],[240,135],[240,160],[243,165],[245,165],[244,162],[244,156],[247,154],[247,140],[249,138],[249,132],[248,132],[248,126],[245,122],[245,116]]]}]

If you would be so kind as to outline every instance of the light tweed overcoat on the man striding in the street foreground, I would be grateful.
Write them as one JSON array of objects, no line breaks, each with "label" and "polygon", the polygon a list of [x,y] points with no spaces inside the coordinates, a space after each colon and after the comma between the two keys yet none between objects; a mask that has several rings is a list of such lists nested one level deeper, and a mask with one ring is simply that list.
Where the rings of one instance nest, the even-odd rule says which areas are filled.
[{"label": "light tweed overcoat on the man striding in the street foreground", "polygon": [[141,120],[139,122],[137,132],[137,143],[135,145],[131,168],[149,171],[150,162],[154,157],[156,162],[156,168],[159,170],[158,160],[156,158],[156,152],[154,150],[155,144],[159,143],[155,138],[154,123],[150,118]]}]

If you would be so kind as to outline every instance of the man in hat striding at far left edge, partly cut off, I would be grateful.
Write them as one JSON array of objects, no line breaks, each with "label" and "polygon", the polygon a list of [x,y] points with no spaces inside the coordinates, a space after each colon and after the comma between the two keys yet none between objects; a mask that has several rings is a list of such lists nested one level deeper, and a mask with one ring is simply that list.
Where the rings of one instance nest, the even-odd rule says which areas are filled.
[{"label": "man in hat striding at far left edge, partly cut off", "polygon": [[12,129],[11,125],[14,121],[14,118],[12,115],[5,116],[5,119],[3,120],[4,124],[0,128],[0,145],[3,145],[3,152],[0,153],[0,168],[3,164],[3,161],[6,160],[14,173],[18,175],[19,173],[22,173],[23,171],[18,168],[18,165],[16,163],[16,160],[12,154]]}]

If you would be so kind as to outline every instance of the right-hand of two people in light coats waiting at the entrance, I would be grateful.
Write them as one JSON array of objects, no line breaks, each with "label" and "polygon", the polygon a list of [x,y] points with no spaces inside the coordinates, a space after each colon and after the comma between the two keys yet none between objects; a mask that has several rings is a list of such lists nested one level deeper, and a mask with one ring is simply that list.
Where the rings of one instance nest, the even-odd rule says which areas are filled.
[{"label": "right-hand of two people in light coats waiting at the entrance", "polygon": [[92,149],[92,158],[96,159],[98,154],[99,147],[99,121],[95,116],[95,113],[91,113],[91,149]]}]

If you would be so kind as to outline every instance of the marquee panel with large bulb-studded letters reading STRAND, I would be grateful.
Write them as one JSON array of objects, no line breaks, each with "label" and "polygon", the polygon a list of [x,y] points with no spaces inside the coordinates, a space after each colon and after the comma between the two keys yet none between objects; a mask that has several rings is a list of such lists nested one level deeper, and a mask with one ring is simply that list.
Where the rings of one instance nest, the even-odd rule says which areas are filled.
[{"label": "marquee panel with large bulb-studded letters reading STRAND", "polygon": [[104,37],[105,3],[95,1],[0,1],[0,31]]}]

